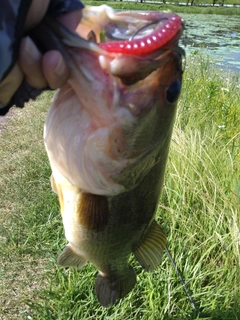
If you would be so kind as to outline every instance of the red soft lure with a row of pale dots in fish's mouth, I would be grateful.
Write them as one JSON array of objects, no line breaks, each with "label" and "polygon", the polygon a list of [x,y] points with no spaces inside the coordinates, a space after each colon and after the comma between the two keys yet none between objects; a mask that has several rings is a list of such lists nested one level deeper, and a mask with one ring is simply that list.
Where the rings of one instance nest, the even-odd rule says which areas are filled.
[{"label": "red soft lure with a row of pale dots in fish's mouth", "polygon": [[[148,18],[151,18],[151,16]],[[151,28],[153,25],[155,25],[154,29]],[[113,41],[100,43],[99,46],[115,54],[144,55],[174,46],[177,44],[182,32],[183,20],[178,15],[159,12],[157,19],[153,19],[143,25],[128,40],[114,41],[113,37]]]}]

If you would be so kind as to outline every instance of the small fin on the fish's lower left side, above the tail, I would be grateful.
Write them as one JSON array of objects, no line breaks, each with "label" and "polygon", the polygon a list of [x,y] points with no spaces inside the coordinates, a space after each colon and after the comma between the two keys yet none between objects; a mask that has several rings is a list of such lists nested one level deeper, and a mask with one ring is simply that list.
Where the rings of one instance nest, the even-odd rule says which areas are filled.
[{"label": "small fin on the fish's lower left side, above the tail", "polygon": [[86,259],[76,254],[70,245],[67,245],[58,258],[58,264],[63,267],[74,267],[81,269],[87,263]]}]

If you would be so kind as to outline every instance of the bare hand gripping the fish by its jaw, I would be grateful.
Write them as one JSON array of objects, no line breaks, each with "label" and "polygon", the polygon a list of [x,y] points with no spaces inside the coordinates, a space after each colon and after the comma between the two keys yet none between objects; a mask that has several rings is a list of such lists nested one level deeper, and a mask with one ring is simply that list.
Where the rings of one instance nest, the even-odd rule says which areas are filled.
[{"label": "bare hand gripping the fish by its jaw", "polygon": [[[33,0],[28,12],[25,30],[37,25],[45,15],[50,0]],[[74,31],[82,17],[81,10],[59,15],[57,20]],[[51,50],[42,55],[34,42],[23,38],[19,58],[8,76],[0,83],[0,103],[7,104],[23,79],[34,88],[61,87],[68,79],[68,67],[59,51]]]}]

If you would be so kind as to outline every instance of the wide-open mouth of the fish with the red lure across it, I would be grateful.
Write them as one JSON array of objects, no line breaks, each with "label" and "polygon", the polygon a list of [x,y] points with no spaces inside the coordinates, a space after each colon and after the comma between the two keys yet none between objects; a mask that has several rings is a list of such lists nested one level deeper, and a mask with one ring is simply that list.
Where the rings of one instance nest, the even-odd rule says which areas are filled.
[{"label": "wide-open mouth of the fish with the red lure across it", "polygon": [[[79,25],[79,31],[86,27],[88,34],[93,35],[92,39],[87,35],[83,36],[81,32],[70,32],[51,17],[45,17],[42,24],[31,33],[40,43],[44,43],[45,47],[46,43],[48,44],[45,49],[60,50],[66,61],[69,60],[68,54],[64,52],[66,50],[61,43],[113,57],[119,54],[142,57],[173,48],[184,55],[184,50],[178,47],[184,24],[177,14],[160,11],[116,13],[105,5],[93,8],[87,6],[83,10]],[[105,34],[104,42],[100,41],[102,31]]]}]

